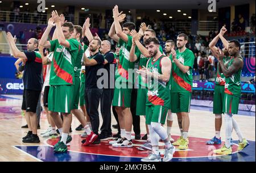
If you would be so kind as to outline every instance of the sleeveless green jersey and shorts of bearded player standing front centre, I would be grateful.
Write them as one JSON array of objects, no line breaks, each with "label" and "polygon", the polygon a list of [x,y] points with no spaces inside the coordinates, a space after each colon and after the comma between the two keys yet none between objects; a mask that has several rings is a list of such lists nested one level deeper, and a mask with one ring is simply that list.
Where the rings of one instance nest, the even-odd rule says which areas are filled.
[{"label": "sleeveless green jersey and shorts of bearded player standing front centre", "polygon": [[[161,61],[163,57],[162,55],[155,61],[154,58],[150,58],[147,69],[162,74]],[[171,81],[166,83],[156,81],[153,78],[147,84],[146,124],[151,124],[151,122],[165,123],[168,109],[170,109],[170,84]]]}]

